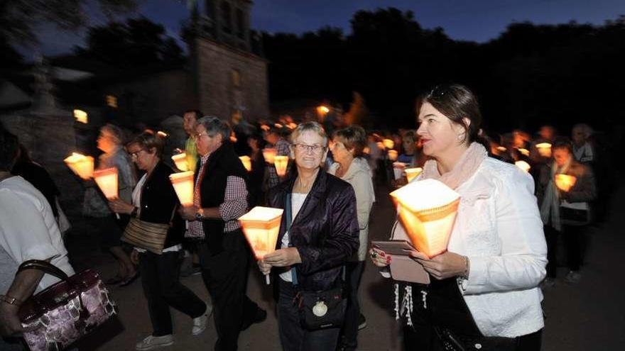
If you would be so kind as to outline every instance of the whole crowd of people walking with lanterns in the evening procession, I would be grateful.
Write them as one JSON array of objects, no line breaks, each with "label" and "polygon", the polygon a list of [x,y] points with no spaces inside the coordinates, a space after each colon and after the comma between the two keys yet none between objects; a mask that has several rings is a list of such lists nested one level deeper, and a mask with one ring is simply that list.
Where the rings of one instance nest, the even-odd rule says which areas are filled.
[{"label": "whole crowd of people walking with lanterns in the evening procession", "polygon": [[[396,133],[360,126],[328,130],[303,121],[259,124],[243,134],[220,118],[186,111],[188,139],[178,151],[195,172],[192,206],[180,206],[170,182],[177,169],[172,155],[164,154],[163,133],[143,130],[128,141],[118,126],[102,126],[97,168],[118,169],[119,197],[107,200],[85,182],[83,213],[97,218],[102,245],[118,262],[107,284],[127,286],[141,278],[153,333],[136,350],[175,342],[170,307],[192,318],[192,335],[200,335],[212,315],[214,350],[237,350],[239,333],[266,319],[246,295],[252,256],[238,218],[253,206],[284,210],[276,250],[257,263],[276,287],[283,350],[356,350],[358,330],[366,327],[359,303],[366,261],[388,278],[388,267],[401,260],[369,243],[376,187],[403,186],[409,167],[423,169],[411,182],[437,179],[461,201],[447,251],[434,257],[409,252],[411,269],[425,269],[430,284],[395,282],[406,350],[540,350],[541,288],[556,285],[558,240],[569,270],[564,281],[580,282],[585,231],[598,196],[605,196],[594,176],[602,172],[592,130],[577,125],[572,140],[550,126],[533,140],[521,130],[489,138],[477,99],[457,84],[420,96],[416,114],[418,129]],[[263,156],[268,149],[290,157],[285,175]],[[21,332],[20,303],[55,282],[35,271],[13,277],[16,267],[36,258],[73,271],[59,230],[58,190],[25,180],[23,165],[31,161],[4,129],[0,152],[0,331],[10,337]],[[250,157],[251,169],[241,155]],[[562,189],[560,174],[575,177],[575,184]],[[161,253],[122,243],[134,221],[167,225]],[[396,221],[390,238],[408,240],[404,225]],[[180,282],[184,260],[202,274],[211,301]],[[332,289],[341,295],[330,306],[338,308],[338,321],[330,328],[305,323],[303,296]]]}]

